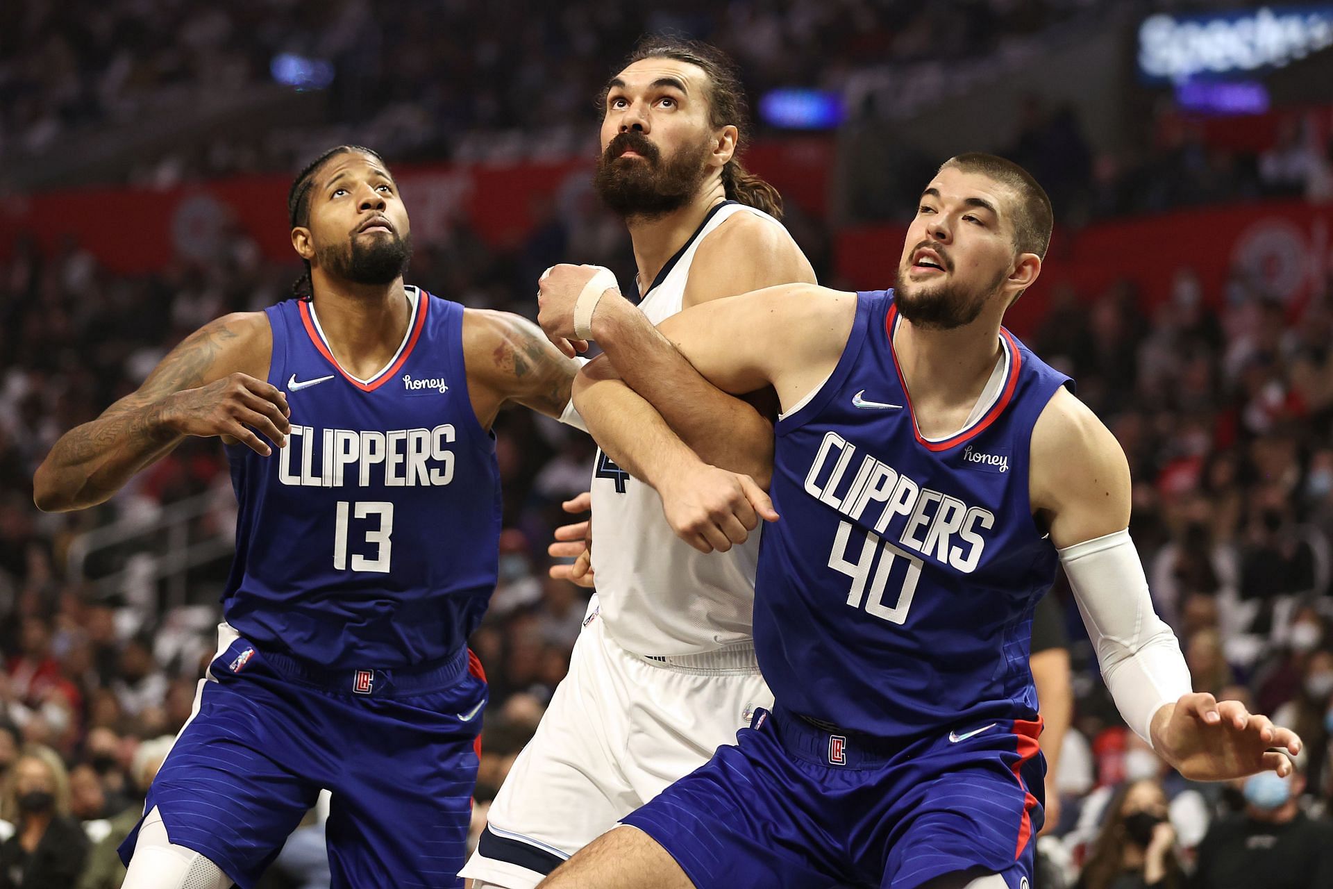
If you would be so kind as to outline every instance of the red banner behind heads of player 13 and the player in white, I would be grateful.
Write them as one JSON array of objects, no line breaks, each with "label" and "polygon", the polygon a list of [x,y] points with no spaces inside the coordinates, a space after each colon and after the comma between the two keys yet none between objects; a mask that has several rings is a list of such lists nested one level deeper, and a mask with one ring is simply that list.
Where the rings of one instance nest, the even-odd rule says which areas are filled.
[{"label": "red banner behind heads of player 13 and the player in white", "polygon": [[[760,143],[745,156],[789,203],[821,217],[833,144],[826,137]],[[521,239],[545,212],[569,211],[589,189],[592,159],[511,167],[396,167],[417,244],[447,236],[459,221],[504,245]],[[17,195],[0,203],[0,260],[31,235],[51,248],[73,239],[107,268],[143,273],[176,256],[207,256],[219,239],[247,232],[263,255],[293,256],[287,225],[289,176],[245,176],[153,191],[95,188]]]}]

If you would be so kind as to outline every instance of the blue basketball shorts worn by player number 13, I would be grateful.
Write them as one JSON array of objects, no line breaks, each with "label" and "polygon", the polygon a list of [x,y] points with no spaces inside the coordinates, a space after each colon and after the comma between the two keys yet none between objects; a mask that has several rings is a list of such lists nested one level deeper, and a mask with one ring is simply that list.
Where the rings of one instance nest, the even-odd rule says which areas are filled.
[{"label": "blue basketball shorts worn by player number 13", "polygon": [[472,652],[408,674],[315,669],[235,638],[200,685],[144,806],[173,844],[252,889],[327,788],[335,888],[463,886],[487,701]]}]

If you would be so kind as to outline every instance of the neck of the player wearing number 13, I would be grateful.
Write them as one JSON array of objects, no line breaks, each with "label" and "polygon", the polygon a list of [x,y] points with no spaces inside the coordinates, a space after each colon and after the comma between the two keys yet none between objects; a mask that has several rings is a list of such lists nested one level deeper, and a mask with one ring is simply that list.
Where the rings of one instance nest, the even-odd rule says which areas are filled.
[{"label": "neck of the player wearing number 13", "polygon": [[391,284],[353,284],[315,271],[312,301],[333,357],[365,379],[399,351],[412,309],[403,279]]}]

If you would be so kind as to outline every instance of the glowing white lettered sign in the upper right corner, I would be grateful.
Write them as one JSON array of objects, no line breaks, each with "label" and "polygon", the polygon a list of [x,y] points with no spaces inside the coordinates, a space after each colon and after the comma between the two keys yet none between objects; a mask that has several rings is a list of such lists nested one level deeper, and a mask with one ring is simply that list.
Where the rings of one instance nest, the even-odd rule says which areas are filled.
[{"label": "glowing white lettered sign in the upper right corner", "polygon": [[1168,16],[1138,28],[1138,71],[1150,81],[1280,68],[1333,45],[1333,5],[1264,7]]}]

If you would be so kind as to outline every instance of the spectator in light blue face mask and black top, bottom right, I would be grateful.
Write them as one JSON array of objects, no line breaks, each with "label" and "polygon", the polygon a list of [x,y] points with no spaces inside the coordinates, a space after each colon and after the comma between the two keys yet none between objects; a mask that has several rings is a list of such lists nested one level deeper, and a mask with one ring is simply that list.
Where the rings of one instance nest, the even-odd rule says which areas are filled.
[{"label": "spectator in light blue face mask and black top, bottom right", "polygon": [[1190,889],[1326,889],[1333,886],[1333,824],[1306,816],[1305,757],[1285,778],[1245,778],[1245,812],[1216,821],[1198,846]]}]

